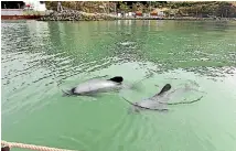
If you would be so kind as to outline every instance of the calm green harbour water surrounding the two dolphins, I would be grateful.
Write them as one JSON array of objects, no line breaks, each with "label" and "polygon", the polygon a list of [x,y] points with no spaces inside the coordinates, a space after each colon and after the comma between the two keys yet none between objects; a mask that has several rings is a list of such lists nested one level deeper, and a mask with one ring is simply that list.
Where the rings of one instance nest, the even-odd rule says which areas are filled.
[{"label": "calm green harbour water surrounding the two dolphins", "polygon": [[[2,140],[83,151],[236,150],[236,22],[1,23]],[[57,87],[149,74],[140,91],[98,98],[62,97]],[[187,79],[207,94],[169,112],[128,114],[120,97],[139,100]]]}]

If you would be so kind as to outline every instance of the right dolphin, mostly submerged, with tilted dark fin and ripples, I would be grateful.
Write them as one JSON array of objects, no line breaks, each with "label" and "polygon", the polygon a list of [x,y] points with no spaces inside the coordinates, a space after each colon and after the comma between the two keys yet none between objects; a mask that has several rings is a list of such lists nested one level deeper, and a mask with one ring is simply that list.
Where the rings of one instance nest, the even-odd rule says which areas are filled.
[{"label": "right dolphin, mostly submerged, with tilted dark fin and ripples", "polygon": [[[200,100],[201,98],[196,99],[196,100],[192,100],[192,101],[180,101],[180,103],[168,103],[168,100],[170,99],[171,95],[173,93],[175,93],[179,89],[175,89],[171,93],[168,93],[171,89],[171,85],[167,84],[160,93],[155,94],[152,97],[142,99],[141,101],[135,101],[131,103],[128,99],[124,98],[127,103],[129,103],[130,105],[132,105],[132,109],[135,109],[135,111],[139,111],[139,110],[159,110],[159,111],[167,111],[169,110],[168,108],[164,108],[164,105],[178,105],[178,104],[192,104],[195,103],[197,100]],[[182,90],[182,89],[180,89]]]}]

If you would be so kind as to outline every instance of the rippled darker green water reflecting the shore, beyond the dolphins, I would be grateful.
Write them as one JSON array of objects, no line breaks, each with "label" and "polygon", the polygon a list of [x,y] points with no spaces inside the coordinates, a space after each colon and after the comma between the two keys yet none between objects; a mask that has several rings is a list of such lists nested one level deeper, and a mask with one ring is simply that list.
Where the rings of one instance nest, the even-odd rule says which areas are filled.
[{"label": "rippled darker green water reflecting the shore, beyond the dolphins", "polygon": [[[212,33],[203,36],[208,28]],[[213,66],[228,74],[222,67],[236,64],[232,28],[229,23],[131,20],[3,23],[2,63],[18,60],[15,53],[22,58],[29,55],[25,69],[13,71],[22,75],[30,68],[46,67],[50,73],[45,76],[54,75],[57,80],[128,62],[153,63],[159,68],[155,72],[181,67],[210,75],[213,71],[203,66]],[[7,67],[3,65],[2,79],[11,78]]]}]

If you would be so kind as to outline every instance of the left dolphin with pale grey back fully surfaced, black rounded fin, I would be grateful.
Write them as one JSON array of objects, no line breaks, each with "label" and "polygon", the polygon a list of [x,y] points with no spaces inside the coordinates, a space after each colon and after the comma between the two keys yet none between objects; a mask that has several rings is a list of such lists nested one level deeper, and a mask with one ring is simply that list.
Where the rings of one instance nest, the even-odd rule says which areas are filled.
[{"label": "left dolphin with pale grey back fully surfaced, black rounded fin", "polygon": [[109,79],[94,78],[71,88],[71,90],[62,91],[66,96],[86,96],[96,93],[106,93],[120,89],[122,87],[122,80],[124,78],[121,76],[115,76]]}]

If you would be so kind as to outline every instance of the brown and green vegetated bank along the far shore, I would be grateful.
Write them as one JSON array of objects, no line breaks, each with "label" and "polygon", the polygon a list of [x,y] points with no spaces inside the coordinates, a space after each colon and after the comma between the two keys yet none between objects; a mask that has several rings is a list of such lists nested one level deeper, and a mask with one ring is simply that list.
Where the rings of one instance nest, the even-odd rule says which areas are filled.
[{"label": "brown and green vegetated bank along the far shore", "polygon": [[[130,4],[122,1],[63,1],[64,8],[79,10],[84,12],[97,13],[114,13],[142,11],[151,12],[154,9],[165,9],[165,15],[174,17],[222,17],[236,18],[236,2],[226,1],[189,1],[189,2],[165,2],[165,1],[149,1],[149,2],[132,2]],[[47,9],[56,10],[56,1],[46,1]]]}]

